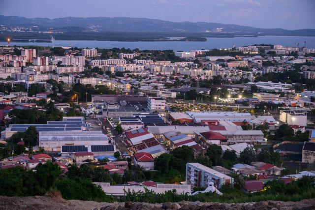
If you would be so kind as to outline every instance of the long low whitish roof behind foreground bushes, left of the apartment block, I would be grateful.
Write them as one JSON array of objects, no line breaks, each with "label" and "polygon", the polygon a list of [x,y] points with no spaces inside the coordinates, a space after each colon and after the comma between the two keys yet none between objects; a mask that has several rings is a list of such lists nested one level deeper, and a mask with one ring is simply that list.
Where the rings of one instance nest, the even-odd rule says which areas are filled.
[{"label": "long low whitish roof behind foreground bushes, left of the apartment block", "polygon": [[106,182],[94,182],[96,185],[102,187],[102,190],[107,195],[113,196],[123,196],[125,191],[130,190],[131,192],[144,192],[145,188],[152,190],[157,194],[164,194],[166,191],[176,189],[176,194],[190,194],[191,186],[189,184],[157,184],[156,187],[143,187],[143,186],[124,186],[124,185],[114,185],[111,186],[110,183]]}]

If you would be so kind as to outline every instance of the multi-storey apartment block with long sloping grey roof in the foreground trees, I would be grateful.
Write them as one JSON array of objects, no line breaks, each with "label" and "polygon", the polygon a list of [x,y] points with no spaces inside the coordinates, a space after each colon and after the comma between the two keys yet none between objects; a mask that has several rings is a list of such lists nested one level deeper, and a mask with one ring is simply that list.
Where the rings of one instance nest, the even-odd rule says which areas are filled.
[{"label": "multi-storey apartment block with long sloping grey roof in the foreground trees", "polygon": [[186,164],[186,183],[192,187],[208,187],[213,182],[219,189],[223,184],[233,185],[234,179],[199,163]]}]

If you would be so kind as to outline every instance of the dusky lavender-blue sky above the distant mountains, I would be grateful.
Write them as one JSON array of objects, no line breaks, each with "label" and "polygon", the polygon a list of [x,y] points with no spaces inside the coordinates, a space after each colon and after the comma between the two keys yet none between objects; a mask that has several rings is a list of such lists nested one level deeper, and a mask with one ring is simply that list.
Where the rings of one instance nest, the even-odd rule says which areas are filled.
[{"label": "dusky lavender-blue sky above the distant mountains", "polygon": [[51,19],[137,17],[315,29],[315,0],[0,0],[0,15]]}]

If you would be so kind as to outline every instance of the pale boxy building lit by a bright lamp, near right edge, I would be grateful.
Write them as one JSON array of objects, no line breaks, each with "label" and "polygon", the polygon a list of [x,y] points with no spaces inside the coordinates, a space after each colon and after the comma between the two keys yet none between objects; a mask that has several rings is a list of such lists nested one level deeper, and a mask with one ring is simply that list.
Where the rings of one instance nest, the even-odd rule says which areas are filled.
[{"label": "pale boxy building lit by a bright lamp, near right edge", "polygon": [[289,125],[307,125],[307,111],[280,110],[280,121]]}]

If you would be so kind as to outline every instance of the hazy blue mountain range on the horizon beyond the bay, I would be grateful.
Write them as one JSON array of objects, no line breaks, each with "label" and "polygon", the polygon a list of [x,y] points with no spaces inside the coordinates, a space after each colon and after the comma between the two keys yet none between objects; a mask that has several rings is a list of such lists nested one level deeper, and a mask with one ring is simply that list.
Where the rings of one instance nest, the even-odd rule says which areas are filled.
[{"label": "hazy blue mountain range on the horizon beyond the bay", "polygon": [[25,18],[0,15],[0,24],[5,26],[37,26],[40,29],[80,31],[80,32],[167,32],[201,33],[223,35],[295,35],[315,36],[315,29],[285,30],[260,29],[234,24],[206,22],[171,22],[147,18],[129,17],[65,17],[65,18]]}]

